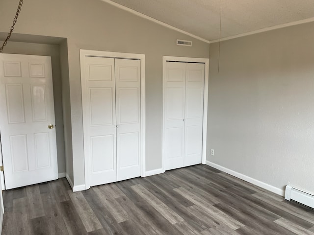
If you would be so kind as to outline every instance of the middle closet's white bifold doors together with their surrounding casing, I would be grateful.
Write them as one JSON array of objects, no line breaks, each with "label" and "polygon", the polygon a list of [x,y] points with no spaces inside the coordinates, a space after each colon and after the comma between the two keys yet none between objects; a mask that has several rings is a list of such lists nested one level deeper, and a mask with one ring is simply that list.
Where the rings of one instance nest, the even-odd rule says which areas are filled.
[{"label": "middle closet's white bifold doors together with their surrounding casing", "polygon": [[[143,176],[145,172],[145,56],[80,50],[80,59],[85,188]],[[107,69],[105,72],[104,68],[109,67],[110,70]],[[93,73],[90,72],[90,68]],[[96,77],[93,83],[90,81],[91,74]],[[105,77],[108,77],[106,80],[110,79],[110,85],[109,81],[103,81]],[[110,94],[107,94],[107,97],[103,95],[97,99],[97,102],[90,102],[89,90],[97,88],[102,91],[98,93],[105,94],[105,90],[109,93],[109,87]],[[104,103],[107,104],[106,110]],[[98,110],[99,115],[97,112],[92,113],[93,107],[94,110]],[[101,116],[102,112],[103,116]],[[107,119],[110,121],[102,123],[105,115],[109,113]],[[95,117],[98,117],[99,125],[96,128],[97,135],[93,136],[90,123]],[[110,133],[103,127],[104,125],[110,128]],[[97,148],[92,145],[91,137],[96,140],[94,146]],[[97,165],[98,172],[94,171],[96,168],[94,165]]]}]

